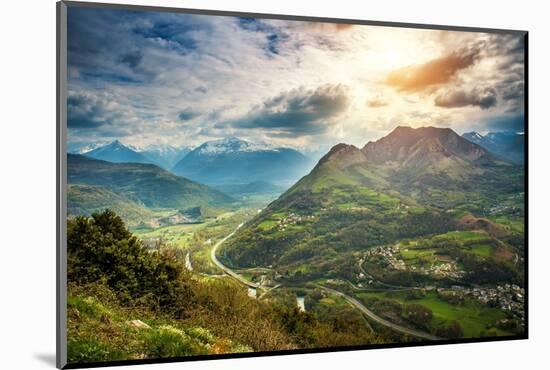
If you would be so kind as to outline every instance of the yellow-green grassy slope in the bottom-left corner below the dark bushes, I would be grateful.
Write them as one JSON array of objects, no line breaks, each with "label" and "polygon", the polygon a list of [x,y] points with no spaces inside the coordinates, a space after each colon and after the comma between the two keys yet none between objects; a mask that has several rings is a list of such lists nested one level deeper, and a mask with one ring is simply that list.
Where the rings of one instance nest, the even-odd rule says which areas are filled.
[{"label": "yellow-green grassy slope in the bottom-left corner below the dark bushes", "polygon": [[[69,296],[68,318],[69,363],[252,351],[203,327],[182,325],[144,310],[128,310],[93,296]],[[132,320],[149,328],[138,328]]]}]

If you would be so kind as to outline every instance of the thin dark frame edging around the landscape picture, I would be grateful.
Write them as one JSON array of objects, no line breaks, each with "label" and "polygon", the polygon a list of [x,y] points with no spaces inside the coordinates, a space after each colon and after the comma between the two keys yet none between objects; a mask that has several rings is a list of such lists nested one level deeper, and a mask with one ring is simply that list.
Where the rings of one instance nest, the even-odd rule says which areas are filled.
[{"label": "thin dark frame edging around the landscape picture", "polygon": [[[401,23],[401,22],[382,22],[369,21],[359,19],[342,19],[342,18],[325,18],[325,17],[308,17],[298,15],[285,14],[266,14],[266,13],[248,13],[248,12],[233,12],[222,10],[205,10],[205,9],[190,9],[190,8],[173,8],[173,7],[156,7],[144,5],[130,4],[111,4],[111,3],[94,3],[80,1],[59,1],[56,4],[57,15],[57,63],[56,63],[56,80],[57,80],[57,100],[56,100],[56,119],[57,119],[57,153],[56,153],[56,169],[57,169],[57,309],[56,309],[56,366],[59,369],[79,369],[107,366],[125,366],[139,364],[159,364],[172,362],[188,362],[202,360],[219,360],[231,358],[249,358],[249,357],[265,357],[265,356],[280,356],[293,354],[308,354],[308,353],[323,353],[323,352],[342,352],[342,351],[357,351],[365,349],[382,349],[382,348],[405,348],[405,347],[423,347],[423,346],[439,346],[446,344],[465,344],[465,343],[483,343],[483,342],[499,342],[509,340],[522,340],[529,338],[529,53],[528,41],[529,32],[524,30],[511,29],[494,29],[494,28],[478,28],[478,27],[461,27],[461,26],[446,26],[446,25],[430,25],[418,23]],[[150,11],[163,13],[185,13],[185,14],[200,14],[200,15],[218,15],[218,16],[233,16],[233,17],[249,17],[260,19],[280,19],[292,21],[312,21],[323,23],[344,23],[354,25],[367,26],[383,26],[383,27],[398,27],[398,28],[416,28],[429,30],[444,30],[444,31],[460,31],[460,32],[481,32],[481,33],[496,33],[496,34],[514,34],[524,37],[524,230],[525,230],[525,251],[524,251],[524,271],[525,271],[525,331],[522,335],[503,336],[503,337],[485,337],[485,338],[467,338],[456,340],[438,340],[433,342],[415,342],[415,343],[388,343],[388,344],[369,344],[358,346],[344,347],[327,347],[327,348],[312,348],[312,349],[296,349],[296,350],[281,350],[269,352],[249,352],[249,353],[234,353],[234,354],[217,354],[217,355],[200,355],[200,356],[185,356],[185,357],[170,357],[158,359],[140,359],[140,360],[119,360],[109,362],[89,362],[89,363],[67,363],[67,309],[66,309],[66,292],[67,292],[67,259],[66,259],[66,72],[67,72],[67,7],[82,7],[82,8],[103,8],[103,9],[121,9],[134,11]]]}]

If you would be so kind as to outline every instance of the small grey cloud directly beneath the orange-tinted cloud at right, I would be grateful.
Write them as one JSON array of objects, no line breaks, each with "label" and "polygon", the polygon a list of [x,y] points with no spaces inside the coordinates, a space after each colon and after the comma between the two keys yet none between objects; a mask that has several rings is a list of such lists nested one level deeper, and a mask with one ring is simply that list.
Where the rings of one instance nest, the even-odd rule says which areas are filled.
[{"label": "small grey cloud directly beneath the orange-tinted cloud at right", "polygon": [[451,90],[438,95],[435,105],[442,108],[459,108],[477,106],[481,109],[489,109],[497,104],[497,93],[494,88],[475,87],[470,91]]}]

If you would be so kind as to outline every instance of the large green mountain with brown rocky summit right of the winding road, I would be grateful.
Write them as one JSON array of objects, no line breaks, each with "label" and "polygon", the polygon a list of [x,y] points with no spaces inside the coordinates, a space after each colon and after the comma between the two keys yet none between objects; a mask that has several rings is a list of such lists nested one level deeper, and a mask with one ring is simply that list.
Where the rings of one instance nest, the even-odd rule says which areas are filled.
[{"label": "large green mountain with brown rocky summit right of the winding road", "polygon": [[374,246],[478,226],[465,215],[518,217],[523,190],[520,167],[454,131],[398,127],[361,149],[334,146],[229,240],[225,262],[294,281],[346,277],[354,253]]}]

